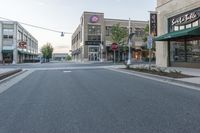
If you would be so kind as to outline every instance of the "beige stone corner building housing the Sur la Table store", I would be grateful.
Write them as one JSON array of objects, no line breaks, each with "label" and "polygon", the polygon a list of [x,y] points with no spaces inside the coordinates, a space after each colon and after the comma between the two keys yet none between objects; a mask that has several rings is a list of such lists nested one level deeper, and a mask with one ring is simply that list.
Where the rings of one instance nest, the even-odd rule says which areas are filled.
[{"label": "beige stone corner building housing the Sur la Table store", "polygon": [[200,1],[157,0],[156,64],[200,68]]}]

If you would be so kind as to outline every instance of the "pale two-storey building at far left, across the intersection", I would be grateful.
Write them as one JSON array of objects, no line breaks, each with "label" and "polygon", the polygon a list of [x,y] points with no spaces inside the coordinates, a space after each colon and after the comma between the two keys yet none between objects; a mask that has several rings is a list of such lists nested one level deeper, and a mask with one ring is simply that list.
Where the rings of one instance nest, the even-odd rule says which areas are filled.
[{"label": "pale two-storey building at far left, across the intersection", "polygon": [[0,21],[0,62],[22,63],[37,58],[38,41],[18,22]]}]

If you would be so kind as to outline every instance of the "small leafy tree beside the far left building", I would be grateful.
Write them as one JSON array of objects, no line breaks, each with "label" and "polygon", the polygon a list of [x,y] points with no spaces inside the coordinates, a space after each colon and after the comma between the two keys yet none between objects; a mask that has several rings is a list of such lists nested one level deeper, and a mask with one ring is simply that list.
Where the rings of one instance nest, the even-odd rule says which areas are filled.
[{"label": "small leafy tree beside the far left building", "polygon": [[49,61],[50,58],[52,58],[53,53],[53,46],[51,43],[46,43],[41,48],[41,53],[43,55],[43,58],[45,58],[47,61]]}]

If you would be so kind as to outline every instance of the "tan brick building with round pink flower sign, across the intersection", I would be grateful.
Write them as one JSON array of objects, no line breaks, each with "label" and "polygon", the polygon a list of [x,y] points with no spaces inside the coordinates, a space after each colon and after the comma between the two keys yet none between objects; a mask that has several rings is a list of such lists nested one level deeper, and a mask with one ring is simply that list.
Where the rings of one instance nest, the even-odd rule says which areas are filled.
[{"label": "tan brick building with round pink flower sign, across the intersection", "polygon": [[[72,35],[72,59],[75,61],[113,60],[111,29],[116,24],[128,29],[129,20],[108,19],[104,18],[104,13],[84,12],[80,19],[80,25]],[[131,21],[131,32],[135,32],[132,46],[132,49],[135,50],[133,57],[138,59],[142,57],[141,47],[146,46],[143,37],[147,24],[147,21]],[[127,57],[123,53],[119,54],[121,60],[125,60]]]}]

